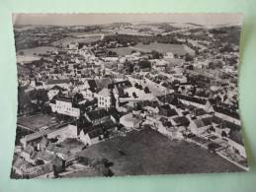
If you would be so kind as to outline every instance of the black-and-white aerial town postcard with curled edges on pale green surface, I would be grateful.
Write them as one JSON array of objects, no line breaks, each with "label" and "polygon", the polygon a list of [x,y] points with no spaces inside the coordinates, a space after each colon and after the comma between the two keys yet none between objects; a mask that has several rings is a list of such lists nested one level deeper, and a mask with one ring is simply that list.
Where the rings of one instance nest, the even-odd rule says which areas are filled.
[{"label": "black-and-white aerial town postcard with curled edges on pale green surface", "polygon": [[177,15],[183,22],[103,14],[102,23],[63,25],[59,18],[76,18],[18,14],[11,177],[248,170],[238,114],[240,25]]}]

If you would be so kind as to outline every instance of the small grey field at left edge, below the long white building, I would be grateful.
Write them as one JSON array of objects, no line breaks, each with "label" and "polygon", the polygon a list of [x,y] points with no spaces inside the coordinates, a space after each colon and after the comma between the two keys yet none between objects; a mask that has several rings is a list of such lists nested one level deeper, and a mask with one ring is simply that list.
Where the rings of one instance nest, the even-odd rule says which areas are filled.
[{"label": "small grey field at left edge, below the long white building", "polygon": [[50,127],[56,122],[46,114],[35,114],[31,116],[18,117],[17,124],[28,127],[31,130],[37,130],[43,127]]}]

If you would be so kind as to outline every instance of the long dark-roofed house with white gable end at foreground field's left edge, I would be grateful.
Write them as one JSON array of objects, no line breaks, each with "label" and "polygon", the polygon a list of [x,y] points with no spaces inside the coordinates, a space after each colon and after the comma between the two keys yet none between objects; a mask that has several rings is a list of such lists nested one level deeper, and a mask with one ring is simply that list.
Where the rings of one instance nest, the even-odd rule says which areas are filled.
[{"label": "long dark-roofed house with white gable end at foreground field's left edge", "polygon": [[99,143],[104,136],[107,135],[109,130],[116,129],[117,125],[112,120],[108,120],[104,123],[86,127],[82,129],[79,133],[79,139],[85,145],[93,145]]}]

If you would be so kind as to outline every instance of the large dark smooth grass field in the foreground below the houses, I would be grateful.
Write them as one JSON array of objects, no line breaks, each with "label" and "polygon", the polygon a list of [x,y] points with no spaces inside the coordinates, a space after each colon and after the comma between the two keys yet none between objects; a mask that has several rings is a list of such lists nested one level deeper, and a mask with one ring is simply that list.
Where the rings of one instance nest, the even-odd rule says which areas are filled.
[{"label": "large dark smooth grass field in the foreground below the houses", "polygon": [[[121,155],[119,151],[126,155]],[[111,160],[115,175],[241,171],[205,149],[187,142],[171,142],[151,129],[130,132],[127,137],[93,145],[80,152],[80,155]],[[84,173],[78,172],[76,175]]]}]

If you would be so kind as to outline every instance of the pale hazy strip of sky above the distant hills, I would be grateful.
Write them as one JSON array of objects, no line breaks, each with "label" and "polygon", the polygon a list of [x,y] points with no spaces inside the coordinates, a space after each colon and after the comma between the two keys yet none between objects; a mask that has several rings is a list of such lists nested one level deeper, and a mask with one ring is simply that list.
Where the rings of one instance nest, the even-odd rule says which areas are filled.
[{"label": "pale hazy strip of sky above the distant hills", "polygon": [[14,25],[100,25],[115,22],[241,24],[241,14],[13,14]]}]

